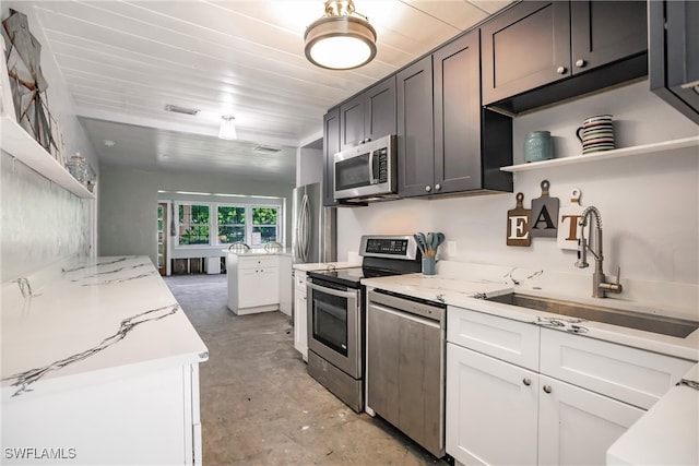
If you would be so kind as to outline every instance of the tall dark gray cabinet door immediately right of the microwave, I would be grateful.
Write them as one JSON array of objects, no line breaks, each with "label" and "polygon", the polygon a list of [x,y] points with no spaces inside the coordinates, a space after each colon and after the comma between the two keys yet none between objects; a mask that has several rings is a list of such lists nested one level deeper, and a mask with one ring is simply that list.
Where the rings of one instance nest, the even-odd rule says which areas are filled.
[{"label": "tall dark gray cabinet door immediately right of the microwave", "polygon": [[433,58],[427,56],[396,74],[398,193],[430,194],[435,179]]}]

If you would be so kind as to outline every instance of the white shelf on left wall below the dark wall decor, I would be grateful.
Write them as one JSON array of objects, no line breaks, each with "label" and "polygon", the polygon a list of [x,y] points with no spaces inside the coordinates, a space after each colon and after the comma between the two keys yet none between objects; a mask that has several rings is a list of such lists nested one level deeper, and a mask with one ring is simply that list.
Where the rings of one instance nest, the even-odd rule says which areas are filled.
[{"label": "white shelf on left wall below the dark wall decor", "polygon": [[46,152],[29,133],[24,131],[14,118],[1,116],[0,132],[4,152],[76,196],[95,199],[95,195],[73,178],[66,167]]}]

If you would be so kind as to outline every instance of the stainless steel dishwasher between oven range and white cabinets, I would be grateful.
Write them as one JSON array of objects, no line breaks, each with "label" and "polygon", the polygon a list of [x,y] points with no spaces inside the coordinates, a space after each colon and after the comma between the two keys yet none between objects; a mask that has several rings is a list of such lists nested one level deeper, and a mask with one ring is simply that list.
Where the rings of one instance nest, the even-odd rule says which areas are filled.
[{"label": "stainless steel dishwasher between oven range and white cabinets", "polygon": [[367,296],[367,413],[442,457],[447,307],[383,290]]}]

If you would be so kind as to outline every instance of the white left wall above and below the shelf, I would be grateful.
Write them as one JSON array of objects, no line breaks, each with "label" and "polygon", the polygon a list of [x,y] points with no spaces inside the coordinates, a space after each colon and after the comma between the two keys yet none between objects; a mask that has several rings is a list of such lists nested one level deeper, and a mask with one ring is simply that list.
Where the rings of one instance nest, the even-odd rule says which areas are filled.
[{"label": "white left wall above and below the shelf", "polygon": [[[2,19],[9,15],[10,8],[27,15],[29,32],[44,46],[40,59],[48,82],[49,111],[63,133],[67,154],[80,152],[98,171],[92,144],[75,118],[66,82],[32,9],[20,1],[3,1]],[[72,254],[87,255],[90,203],[94,201],[76,198],[5,152],[1,157],[0,280],[14,279]]]}]

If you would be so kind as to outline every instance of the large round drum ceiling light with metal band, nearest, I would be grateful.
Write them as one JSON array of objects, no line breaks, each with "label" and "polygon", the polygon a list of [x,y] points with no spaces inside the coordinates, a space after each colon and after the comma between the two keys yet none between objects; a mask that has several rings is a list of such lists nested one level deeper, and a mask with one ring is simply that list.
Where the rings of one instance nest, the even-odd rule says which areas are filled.
[{"label": "large round drum ceiling light with metal band, nearest", "polygon": [[329,70],[352,70],[376,57],[376,31],[352,0],[327,0],[325,14],[306,28],[306,58]]}]

